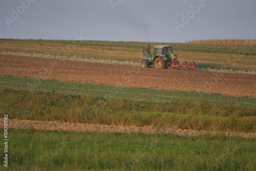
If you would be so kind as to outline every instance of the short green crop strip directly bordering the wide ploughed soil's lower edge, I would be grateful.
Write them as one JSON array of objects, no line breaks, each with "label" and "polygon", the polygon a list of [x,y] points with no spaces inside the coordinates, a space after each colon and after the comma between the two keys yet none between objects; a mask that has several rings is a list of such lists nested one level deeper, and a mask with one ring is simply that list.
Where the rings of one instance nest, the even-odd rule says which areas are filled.
[{"label": "short green crop strip directly bordering the wide ploughed soil's lower edge", "polygon": [[221,95],[208,95],[196,92],[170,92],[141,88],[124,88],[88,83],[71,83],[54,80],[17,78],[0,76],[0,89],[12,88],[16,90],[55,91],[73,95],[95,95],[97,97],[111,97],[115,99],[132,98],[146,101],[169,101],[173,99],[188,99],[193,101],[208,100],[212,104],[238,105],[242,108],[256,108],[256,98],[231,97]]}]

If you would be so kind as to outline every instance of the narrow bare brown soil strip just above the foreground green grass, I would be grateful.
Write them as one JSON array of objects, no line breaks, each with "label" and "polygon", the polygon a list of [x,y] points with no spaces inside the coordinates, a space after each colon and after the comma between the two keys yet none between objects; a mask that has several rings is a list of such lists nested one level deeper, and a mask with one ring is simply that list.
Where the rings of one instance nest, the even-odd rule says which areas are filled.
[{"label": "narrow bare brown soil strip just above the foreground green grass", "polygon": [[[4,119],[1,118],[0,122],[3,123]],[[0,125],[3,128],[3,124]],[[157,129],[152,126],[138,127],[138,126],[123,126],[123,125],[99,125],[99,124],[83,124],[83,123],[67,123],[57,121],[37,121],[37,120],[18,120],[9,119],[8,129],[13,130],[41,130],[41,131],[65,131],[65,132],[97,132],[97,133],[144,133],[144,134],[174,134],[178,136],[198,136],[205,134],[206,131],[195,130],[181,130],[175,128],[161,128]],[[210,132],[211,135],[217,132]],[[234,133],[226,132],[226,136],[242,136],[244,138],[256,138],[256,133]]]}]

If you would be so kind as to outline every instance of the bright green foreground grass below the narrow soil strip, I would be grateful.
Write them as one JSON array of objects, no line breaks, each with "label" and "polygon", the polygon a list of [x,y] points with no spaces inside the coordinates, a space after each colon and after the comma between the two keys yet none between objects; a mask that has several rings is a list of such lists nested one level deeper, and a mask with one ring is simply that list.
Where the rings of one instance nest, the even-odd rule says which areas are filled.
[{"label": "bright green foreground grass below the narrow soil strip", "polygon": [[[1,170],[255,170],[256,141],[241,137],[9,131]],[[0,132],[3,137],[3,131]],[[189,144],[189,145],[188,145]],[[0,155],[3,156],[3,151]]]}]

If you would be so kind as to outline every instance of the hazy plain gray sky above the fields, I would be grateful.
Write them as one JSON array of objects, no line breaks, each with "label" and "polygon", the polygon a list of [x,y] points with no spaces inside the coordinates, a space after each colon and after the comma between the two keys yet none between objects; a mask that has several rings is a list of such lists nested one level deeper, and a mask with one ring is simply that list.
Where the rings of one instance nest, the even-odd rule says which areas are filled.
[{"label": "hazy plain gray sky above the fields", "polygon": [[256,39],[255,0],[1,0],[0,38]]}]

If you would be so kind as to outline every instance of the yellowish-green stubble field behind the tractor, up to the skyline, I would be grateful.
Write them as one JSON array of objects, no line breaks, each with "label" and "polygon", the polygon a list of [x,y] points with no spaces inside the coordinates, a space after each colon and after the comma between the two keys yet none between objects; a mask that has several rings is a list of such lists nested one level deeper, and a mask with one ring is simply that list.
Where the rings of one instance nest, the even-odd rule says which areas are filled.
[{"label": "yellowish-green stubble field behind the tractor, up to the skyline", "polygon": [[[152,42],[173,46],[180,61],[196,60],[200,68],[256,70],[256,45],[181,44]],[[103,58],[140,62],[147,42],[69,41],[0,39],[0,51],[29,52]]]}]

